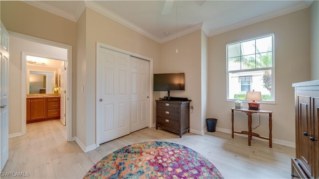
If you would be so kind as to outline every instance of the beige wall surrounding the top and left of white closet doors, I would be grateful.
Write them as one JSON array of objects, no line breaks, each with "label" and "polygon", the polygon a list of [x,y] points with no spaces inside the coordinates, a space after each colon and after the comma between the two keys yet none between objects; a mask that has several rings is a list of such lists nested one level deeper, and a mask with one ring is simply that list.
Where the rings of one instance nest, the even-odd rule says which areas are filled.
[{"label": "beige wall surrounding the top and left of white closet doors", "polygon": [[[84,70],[83,81],[79,82],[79,86],[82,84],[84,86],[84,94],[78,95],[77,98],[78,101],[85,101],[84,105],[80,106],[80,109],[85,108],[85,110],[77,109],[78,114],[81,113],[84,116],[83,124],[77,126],[84,128],[82,125],[85,125],[86,136],[85,139],[81,138],[81,141],[88,147],[95,144],[96,42],[152,58],[154,61],[159,60],[159,43],[90,8],[86,8],[85,13],[83,18],[86,18],[84,25],[86,27],[84,32],[86,59],[81,60],[81,67],[78,67],[79,70]],[[77,122],[80,122],[79,118]],[[80,128],[77,131],[81,132]]]}]

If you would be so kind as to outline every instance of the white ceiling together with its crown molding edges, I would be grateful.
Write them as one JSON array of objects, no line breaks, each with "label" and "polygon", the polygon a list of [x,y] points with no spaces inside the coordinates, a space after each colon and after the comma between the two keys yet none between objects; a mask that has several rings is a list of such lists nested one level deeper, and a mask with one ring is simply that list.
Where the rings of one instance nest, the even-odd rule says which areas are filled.
[{"label": "white ceiling together with its crown molding edges", "polygon": [[[309,7],[313,0],[35,0],[24,2],[77,21],[92,8],[163,43],[202,29],[207,36]],[[171,7],[165,5],[165,2]],[[165,6],[166,13],[163,13]],[[166,35],[164,34],[165,32]]]}]

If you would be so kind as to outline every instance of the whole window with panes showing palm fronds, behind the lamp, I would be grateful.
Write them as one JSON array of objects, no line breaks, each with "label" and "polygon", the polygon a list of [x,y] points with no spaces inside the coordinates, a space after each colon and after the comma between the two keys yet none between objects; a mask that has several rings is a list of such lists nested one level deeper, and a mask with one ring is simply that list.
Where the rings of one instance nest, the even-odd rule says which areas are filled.
[{"label": "whole window with panes showing palm fronds, behind the lamp", "polygon": [[227,49],[227,99],[245,99],[247,91],[261,91],[274,101],[274,34],[230,43]]}]

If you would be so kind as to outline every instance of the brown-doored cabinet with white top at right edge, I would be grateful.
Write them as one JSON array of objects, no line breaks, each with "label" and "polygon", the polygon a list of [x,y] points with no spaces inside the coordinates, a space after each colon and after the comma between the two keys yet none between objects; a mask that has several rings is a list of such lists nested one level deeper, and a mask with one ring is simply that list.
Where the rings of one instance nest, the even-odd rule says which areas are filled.
[{"label": "brown-doored cabinet with white top at right edge", "polygon": [[296,158],[292,178],[319,178],[319,80],[295,87]]}]

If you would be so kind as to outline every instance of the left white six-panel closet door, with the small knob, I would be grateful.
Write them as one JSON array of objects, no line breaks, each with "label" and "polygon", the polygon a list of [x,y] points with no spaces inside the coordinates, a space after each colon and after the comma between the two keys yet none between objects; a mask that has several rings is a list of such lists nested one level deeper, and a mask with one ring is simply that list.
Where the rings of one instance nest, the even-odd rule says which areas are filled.
[{"label": "left white six-panel closet door, with the small knob", "polygon": [[130,133],[130,56],[100,47],[97,68],[101,144]]}]

